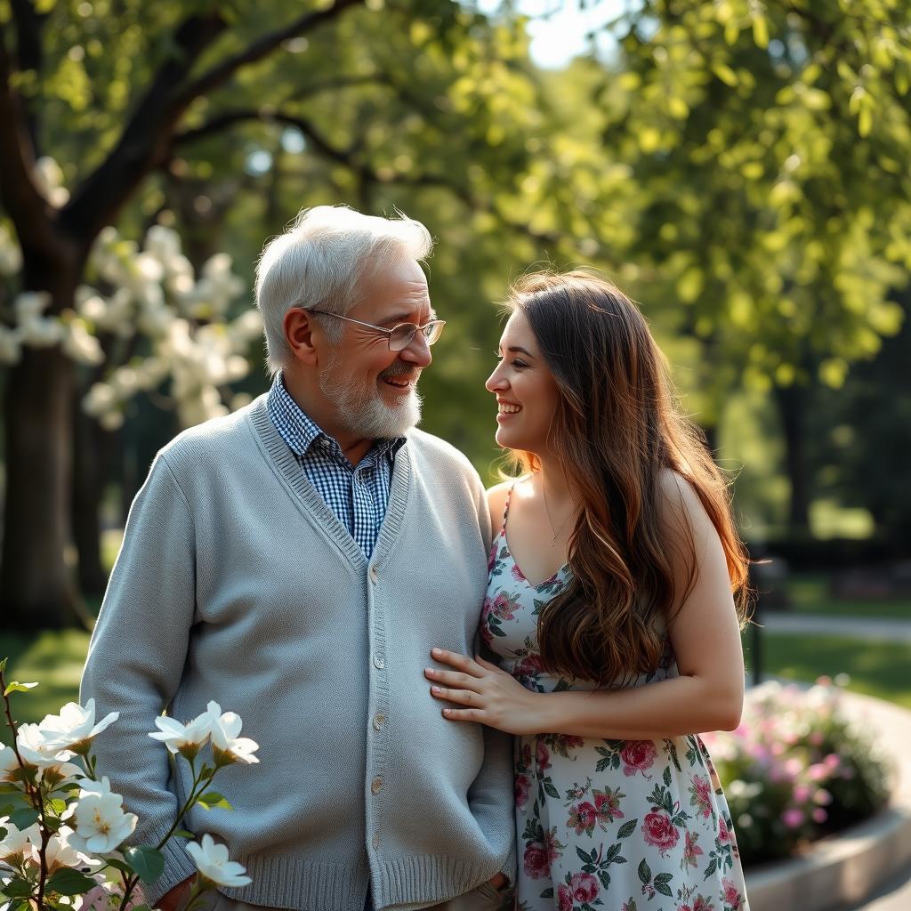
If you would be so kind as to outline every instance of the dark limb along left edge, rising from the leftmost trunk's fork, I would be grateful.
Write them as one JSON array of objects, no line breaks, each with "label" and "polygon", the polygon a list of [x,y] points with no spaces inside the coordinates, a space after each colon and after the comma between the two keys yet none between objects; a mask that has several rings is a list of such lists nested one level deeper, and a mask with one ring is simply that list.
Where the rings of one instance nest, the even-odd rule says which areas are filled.
[{"label": "dark limb along left edge, rising from the leftmost trunk's fork", "polygon": [[13,220],[23,251],[54,258],[52,209],[32,179],[35,150],[26,127],[21,99],[9,80],[12,60],[6,50],[6,36],[0,23],[0,200]]}]

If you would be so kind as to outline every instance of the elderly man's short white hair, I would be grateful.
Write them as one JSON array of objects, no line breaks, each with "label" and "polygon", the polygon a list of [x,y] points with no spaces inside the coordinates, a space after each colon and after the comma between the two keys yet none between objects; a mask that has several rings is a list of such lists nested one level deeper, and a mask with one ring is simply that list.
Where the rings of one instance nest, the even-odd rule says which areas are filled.
[{"label": "elderly man's short white hair", "polygon": [[[368,265],[382,269],[430,254],[434,241],[424,225],[403,212],[396,215],[384,219],[348,206],[316,206],[302,210],[291,228],[266,244],[256,267],[256,306],[272,375],[291,355],[284,317],[292,307],[345,314],[360,299]],[[327,332],[337,337],[343,327],[327,326]]]}]

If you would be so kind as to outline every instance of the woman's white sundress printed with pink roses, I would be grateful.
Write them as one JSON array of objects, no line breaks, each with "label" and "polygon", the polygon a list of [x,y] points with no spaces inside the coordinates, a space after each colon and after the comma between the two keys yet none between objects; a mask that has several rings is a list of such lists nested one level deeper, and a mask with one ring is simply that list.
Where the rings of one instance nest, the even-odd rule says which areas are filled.
[{"label": "woman's white sundress printed with pink roses", "polygon": [[[510,491],[511,496],[511,491]],[[503,527],[490,551],[481,635],[528,690],[590,691],[541,667],[537,615],[568,567],[532,586]],[[676,677],[660,667],[632,682]],[[655,741],[516,738],[516,911],[748,911],[731,814],[697,735]]]}]

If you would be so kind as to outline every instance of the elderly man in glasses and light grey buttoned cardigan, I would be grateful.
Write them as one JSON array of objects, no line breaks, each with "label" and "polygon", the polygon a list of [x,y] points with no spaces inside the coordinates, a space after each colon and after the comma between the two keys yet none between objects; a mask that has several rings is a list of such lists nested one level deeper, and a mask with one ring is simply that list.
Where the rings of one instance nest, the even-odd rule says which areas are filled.
[{"label": "elderly man in glasses and light grey buttoned cardigan", "polygon": [[[512,878],[509,742],[446,722],[423,675],[472,649],[490,543],[476,473],[414,429],[430,248],[414,220],[302,212],[257,272],[270,392],[165,446],[130,510],[82,697],[120,712],[98,768],[138,844],[188,794],[147,737],[162,709],[219,701],[260,743],[220,773],[234,812],[186,820],[252,877],[218,911],[481,911]],[[146,897],[170,909],[194,867],[165,855]]]}]

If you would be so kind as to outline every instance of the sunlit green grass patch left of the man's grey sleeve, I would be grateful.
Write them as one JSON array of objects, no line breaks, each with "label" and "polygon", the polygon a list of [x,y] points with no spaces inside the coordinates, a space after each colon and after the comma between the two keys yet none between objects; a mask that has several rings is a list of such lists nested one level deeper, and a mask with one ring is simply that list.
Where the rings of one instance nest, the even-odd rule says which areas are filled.
[{"label": "sunlit green grass patch left of the man's grey sleeve", "polygon": [[[0,635],[0,658],[9,658],[6,681],[38,682],[34,690],[11,696],[17,723],[40,722],[48,712],[58,711],[65,702],[78,700],[88,635],[85,630]],[[5,725],[2,740],[9,743]]]}]

